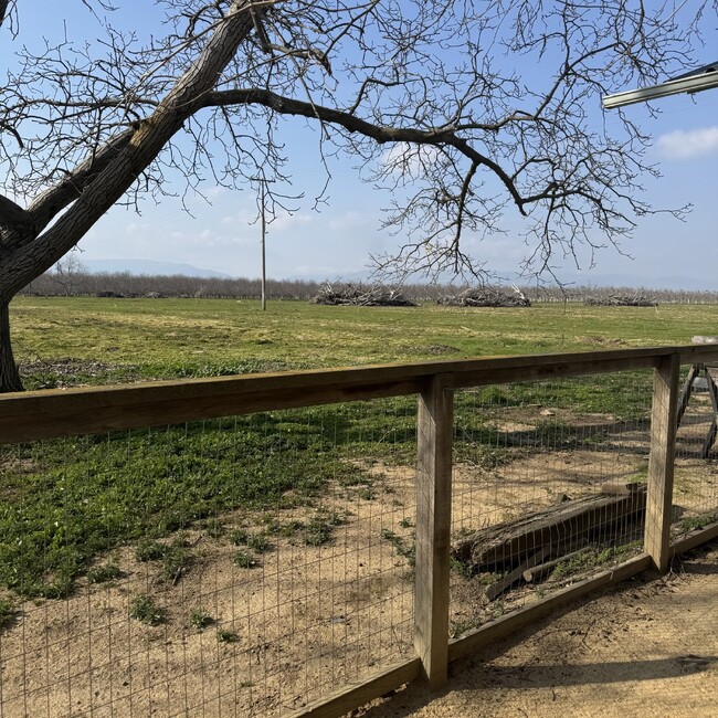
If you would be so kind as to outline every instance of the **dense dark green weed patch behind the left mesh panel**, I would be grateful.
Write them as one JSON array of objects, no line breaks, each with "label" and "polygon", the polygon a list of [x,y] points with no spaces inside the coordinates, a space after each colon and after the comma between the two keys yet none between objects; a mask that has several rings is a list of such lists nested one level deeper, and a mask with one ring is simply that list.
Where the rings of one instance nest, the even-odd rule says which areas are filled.
[{"label": "dense dark green weed patch behind the left mesh panel", "polygon": [[304,416],[294,431],[284,416],[277,432],[278,421],[2,447],[0,584],[24,596],[64,596],[94,557],[128,542],[137,542],[137,560],[160,561],[171,579],[189,568],[190,551],[157,539],[228,510],[310,504],[329,479],[360,473],[320,425]]}]

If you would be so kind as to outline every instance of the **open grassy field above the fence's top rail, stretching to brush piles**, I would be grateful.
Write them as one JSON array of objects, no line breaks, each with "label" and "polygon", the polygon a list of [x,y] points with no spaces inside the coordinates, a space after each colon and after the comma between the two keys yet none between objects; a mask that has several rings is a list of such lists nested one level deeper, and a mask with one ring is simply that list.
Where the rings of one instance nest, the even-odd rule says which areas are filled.
[{"label": "open grassy field above the fence's top rail, stretching to brush piles", "polygon": [[[327,307],[306,302],[20,297],[15,357],[28,388],[466,357],[689,344],[718,334],[718,307],[518,309],[436,305]],[[82,362],[101,362],[83,371]],[[54,383],[53,383],[54,382]]]}]

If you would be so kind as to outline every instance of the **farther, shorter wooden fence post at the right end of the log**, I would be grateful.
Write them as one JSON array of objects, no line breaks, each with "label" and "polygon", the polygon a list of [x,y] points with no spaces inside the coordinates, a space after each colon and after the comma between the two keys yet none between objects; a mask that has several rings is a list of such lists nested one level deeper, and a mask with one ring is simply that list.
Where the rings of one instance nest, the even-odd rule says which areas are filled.
[{"label": "farther, shorter wooden fence post at the right end of the log", "polygon": [[676,455],[680,357],[662,357],[653,379],[651,454],[646,504],[645,550],[662,573],[668,570],[673,473]]}]

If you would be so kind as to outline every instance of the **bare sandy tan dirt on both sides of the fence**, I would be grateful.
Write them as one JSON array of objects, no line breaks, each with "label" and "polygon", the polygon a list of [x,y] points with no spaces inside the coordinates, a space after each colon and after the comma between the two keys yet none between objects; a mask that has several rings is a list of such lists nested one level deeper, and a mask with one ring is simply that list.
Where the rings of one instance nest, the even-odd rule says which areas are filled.
[{"label": "bare sandy tan dirt on both sides of the fence", "polygon": [[[455,466],[457,534],[624,484],[645,464],[645,432],[623,432],[611,451],[525,452],[519,419],[510,416],[519,458]],[[686,516],[716,505],[718,467],[701,461],[698,471],[695,461],[676,467]],[[220,536],[184,531],[187,570],[162,574],[125,546],[102,559],[118,579],[80,582],[64,601],[25,601],[0,634],[0,718],[278,717],[411,657],[414,474],[373,463],[368,483],[334,486],[320,508],[224,516]],[[233,530],[331,516],[330,540],[305,546],[298,535],[270,532],[256,566],[237,562],[244,548]],[[456,572],[451,588],[456,635],[543,590],[492,602]],[[161,621],[133,615],[140,596]],[[441,693],[410,686],[355,716],[718,715],[717,599],[718,541],[675,561],[667,577],[630,581],[456,665]],[[207,626],[193,621],[198,611]]]}]

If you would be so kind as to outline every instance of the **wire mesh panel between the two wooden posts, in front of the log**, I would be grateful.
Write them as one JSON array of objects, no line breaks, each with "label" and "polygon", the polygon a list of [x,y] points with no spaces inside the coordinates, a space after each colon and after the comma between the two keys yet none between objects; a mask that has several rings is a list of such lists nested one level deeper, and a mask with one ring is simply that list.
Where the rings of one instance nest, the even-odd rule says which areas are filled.
[{"label": "wire mesh panel between the two wooden posts, in front of the log", "polygon": [[651,379],[624,372],[457,395],[453,636],[641,552]]}]

